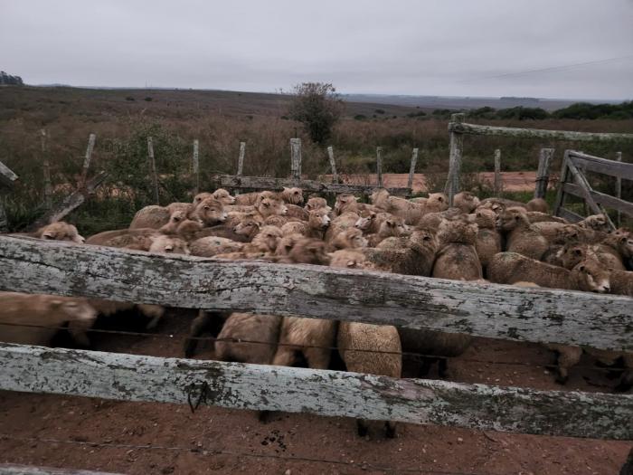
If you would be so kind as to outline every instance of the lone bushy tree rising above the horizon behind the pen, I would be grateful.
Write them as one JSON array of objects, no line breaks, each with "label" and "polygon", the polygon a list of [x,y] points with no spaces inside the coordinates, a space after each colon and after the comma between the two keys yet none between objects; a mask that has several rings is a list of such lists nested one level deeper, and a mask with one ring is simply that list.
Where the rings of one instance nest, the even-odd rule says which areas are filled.
[{"label": "lone bushy tree rising above the horizon behind the pen", "polygon": [[326,82],[303,82],[294,88],[288,116],[303,124],[313,142],[324,144],[343,113],[335,87]]}]

